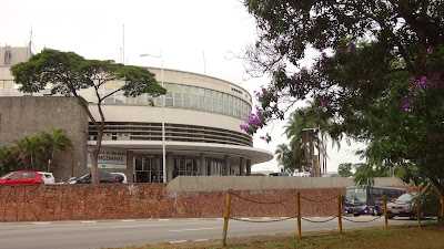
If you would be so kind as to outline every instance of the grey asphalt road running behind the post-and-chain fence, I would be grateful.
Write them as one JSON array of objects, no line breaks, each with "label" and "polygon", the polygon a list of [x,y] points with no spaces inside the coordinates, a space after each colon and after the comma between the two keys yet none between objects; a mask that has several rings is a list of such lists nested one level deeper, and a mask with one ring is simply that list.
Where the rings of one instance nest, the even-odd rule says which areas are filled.
[{"label": "grey asphalt road running behind the post-and-chain fence", "polygon": [[[337,218],[305,217],[302,220],[302,234],[312,230],[337,229]],[[343,220],[343,229],[356,227],[383,227],[383,217],[361,216],[346,217],[359,221]],[[296,232],[296,219],[283,221],[274,218],[251,218],[230,220],[228,237],[246,237]],[[261,222],[254,222],[261,221]],[[315,221],[315,222],[313,222]],[[414,224],[407,219],[389,220],[389,226]],[[179,243],[188,240],[222,239],[223,218],[213,219],[138,219],[138,220],[83,220],[54,222],[0,222],[1,249],[81,249],[81,248],[113,248],[132,245],[158,242]]]}]

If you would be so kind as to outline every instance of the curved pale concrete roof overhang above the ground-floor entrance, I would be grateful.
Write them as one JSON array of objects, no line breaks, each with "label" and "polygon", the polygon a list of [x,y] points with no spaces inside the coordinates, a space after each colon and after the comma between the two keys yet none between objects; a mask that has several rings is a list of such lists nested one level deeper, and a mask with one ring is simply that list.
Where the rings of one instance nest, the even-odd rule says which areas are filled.
[{"label": "curved pale concrete roof overhang above the ground-floor entrance", "polygon": [[[89,141],[88,145],[95,145]],[[162,153],[161,141],[102,141],[103,147],[125,148],[138,153]],[[206,155],[230,155],[251,159],[251,164],[265,163],[273,159],[274,155],[265,149],[211,143],[189,143],[165,141],[165,151],[183,154],[205,153]]]}]

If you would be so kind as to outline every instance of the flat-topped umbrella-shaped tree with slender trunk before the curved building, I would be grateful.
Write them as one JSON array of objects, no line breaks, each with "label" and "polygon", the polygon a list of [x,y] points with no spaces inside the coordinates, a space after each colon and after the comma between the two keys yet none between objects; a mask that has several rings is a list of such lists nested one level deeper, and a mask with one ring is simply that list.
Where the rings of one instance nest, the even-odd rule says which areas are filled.
[{"label": "flat-topped umbrella-shaped tree with slender trunk before the curved building", "polygon": [[[158,84],[154,74],[148,70],[133,65],[117,64],[112,61],[87,60],[73,52],[61,52],[44,49],[31,56],[28,62],[22,62],[11,68],[12,75],[19,90],[34,93],[51,87],[52,93],[73,96],[83,107],[88,117],[98,131],[97,143],[91,153],[91,183],[98,184],[98,158],[102,144],[104,115],[103,101],[117,92],[124,96],[138,96],[148,93],[151,96],[165,94],[167,90]],[[123,82],[112,92],[101,94],[99,90],[107,82]],[[79,90],[92,89],[97,97],[97,107],[100,120],[92,116],[88,102],[79,94]]]}]

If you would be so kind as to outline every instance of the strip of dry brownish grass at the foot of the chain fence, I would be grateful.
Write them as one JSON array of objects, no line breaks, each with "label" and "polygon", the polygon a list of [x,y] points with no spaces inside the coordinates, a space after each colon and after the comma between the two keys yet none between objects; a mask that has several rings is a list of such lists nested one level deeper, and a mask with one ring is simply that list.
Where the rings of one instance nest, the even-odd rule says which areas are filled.
[{"label": "strip of dry brownish grass at the foot of the chain fence", "polygon": [[125,247],[121,249],[173,249],[173,248],[303,248],[303,249],[444,249],[444,225],[431,224],[421,229],[415,226],[396,226],[389,229],[369,228],[344,230],[343,234],[304,232],[302,239],[294,234],[254,236],[228,239],[226,247],[221,240],[203,242],[183,242],[175,245],[158,243],[147,246]]}]

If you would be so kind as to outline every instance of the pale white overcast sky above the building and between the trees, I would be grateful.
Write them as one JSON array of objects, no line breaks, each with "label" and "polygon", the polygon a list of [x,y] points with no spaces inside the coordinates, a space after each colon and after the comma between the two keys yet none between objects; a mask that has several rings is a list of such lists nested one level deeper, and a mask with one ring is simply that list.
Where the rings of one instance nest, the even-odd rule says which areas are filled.
[{"label": "pale white overcast sky above the building and between the trees", "polygon": [[[114,60],[134,65],[158,66],[163,54],[167,69],[206,74],[241,85],[253,94],[268,79],[251,80],[244,73],[242,54],[255,39],[254,19],[240,0],[1,0],[0,45],[73,51],[87,59]],[[275,122],[259,132],[254,146],[274,152],[286,142]],[[270,144],[259,136],[271,132]],[[341,163],[356,163],[355,146],[341,151],[329,146],[329,172]],[[275,160],[252,170],[278,170]]]}]

